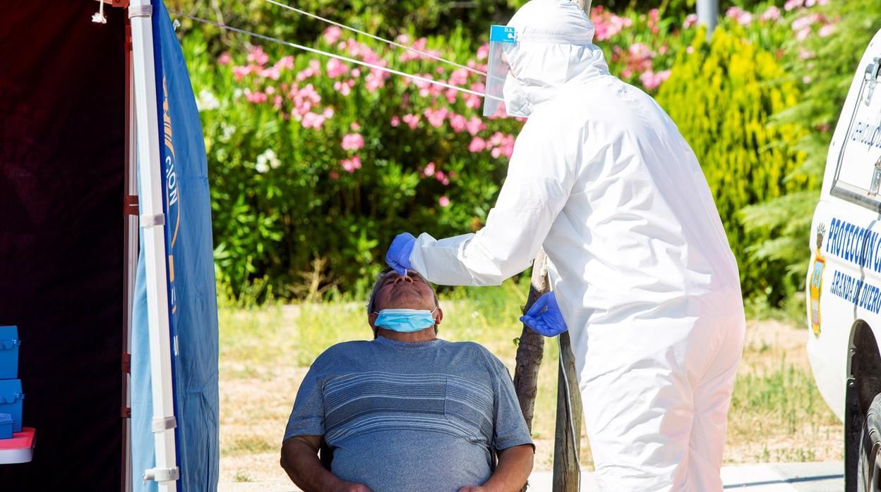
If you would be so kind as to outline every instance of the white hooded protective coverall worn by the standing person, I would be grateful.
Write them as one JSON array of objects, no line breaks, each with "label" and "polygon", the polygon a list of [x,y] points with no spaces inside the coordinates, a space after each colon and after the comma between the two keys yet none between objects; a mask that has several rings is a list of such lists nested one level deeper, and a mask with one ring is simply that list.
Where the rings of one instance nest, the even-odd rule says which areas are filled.
[{"label": "white hooded protective coverall worn by the standing person", "polygon": [[477,234],[421,234],[412,267],[497,285],[544,246],[600,488],[721,491],[744,307],[697,158],[651,97],[609,74],[576,4],[532,0],[508,26],[547,42],[506,52],[519,85],[506,104],[529,120],[498,202]]}]

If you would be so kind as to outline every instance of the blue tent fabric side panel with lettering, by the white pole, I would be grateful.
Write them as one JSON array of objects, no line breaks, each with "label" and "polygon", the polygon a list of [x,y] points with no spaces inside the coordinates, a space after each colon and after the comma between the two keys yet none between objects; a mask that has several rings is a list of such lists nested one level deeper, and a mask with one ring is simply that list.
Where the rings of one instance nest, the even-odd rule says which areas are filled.
[{"label": "blue tent fabric side panel with lettering, by the white pole", "polygon": [[[177,417],[178,489],[218,486],[218,319],[211,239],[211,195],[202,126],[186,62],[165,5],[153,0],[153,44],[159,115],[159,147],[165,190],[168,306],[174,408]],[[136,319],[146,331],[143,262],[138,261]],[[142,304],[141,295],[144,295]],[[152,467],[152,398],[149,338],[132,336],[132,461],[135,490]],[[136,350],[137,347],[137,350]],[[136,360],[137,359],[139,360]],[[135,371],[140,372],[136,380]],[[137,394],[137,408],[135,407]],[[137,429],[136,429],[137,424]],[[136,459],[137,452],[137,459]]]}]

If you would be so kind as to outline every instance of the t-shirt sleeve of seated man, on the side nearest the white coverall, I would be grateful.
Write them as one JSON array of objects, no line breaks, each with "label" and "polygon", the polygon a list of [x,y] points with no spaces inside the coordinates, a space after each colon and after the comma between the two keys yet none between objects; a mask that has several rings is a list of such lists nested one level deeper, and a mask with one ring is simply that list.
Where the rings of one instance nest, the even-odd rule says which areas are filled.
[{"label": "t-shirt sleeve of seated man, on the side nearest the white coverall", "polygon": [[495,431],[492,436],[492,446],[501,451],[521,444],[530,444],[535,449],[536,446],[532,444],[529,429],[520,410],[520,402],[517,401],[511,373],[495,356],[490,355],[490,363],[496,379],[495,422],[493,422]]}]

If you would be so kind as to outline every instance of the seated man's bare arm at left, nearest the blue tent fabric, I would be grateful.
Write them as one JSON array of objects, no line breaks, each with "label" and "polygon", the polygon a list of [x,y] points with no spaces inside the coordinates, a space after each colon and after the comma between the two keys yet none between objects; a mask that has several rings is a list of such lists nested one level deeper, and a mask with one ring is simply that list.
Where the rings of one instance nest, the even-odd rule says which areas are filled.
[{"label": "seated man's bare arm at left, nearest the blue tent fabric", "polygon": [[307,492],[371,492],[361,483],[342,481],[318,459],[321,436],[294,436],[281,444],[281,467],[291,481]]}]

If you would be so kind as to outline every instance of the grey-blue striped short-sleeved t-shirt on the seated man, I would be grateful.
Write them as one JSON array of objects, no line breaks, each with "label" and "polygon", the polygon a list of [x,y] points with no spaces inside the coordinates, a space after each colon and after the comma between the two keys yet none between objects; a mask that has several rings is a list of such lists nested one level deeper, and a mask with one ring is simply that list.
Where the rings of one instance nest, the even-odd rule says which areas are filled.
[{"label": "grey-blue striped short-sleeved t-shirt on the seated man", "polygon": [[315,359],[285,439],[323,436],[333,474],[374,492],[455,491],[490,449],[532,444],[507,368],[470,341],[347,341]]}]

